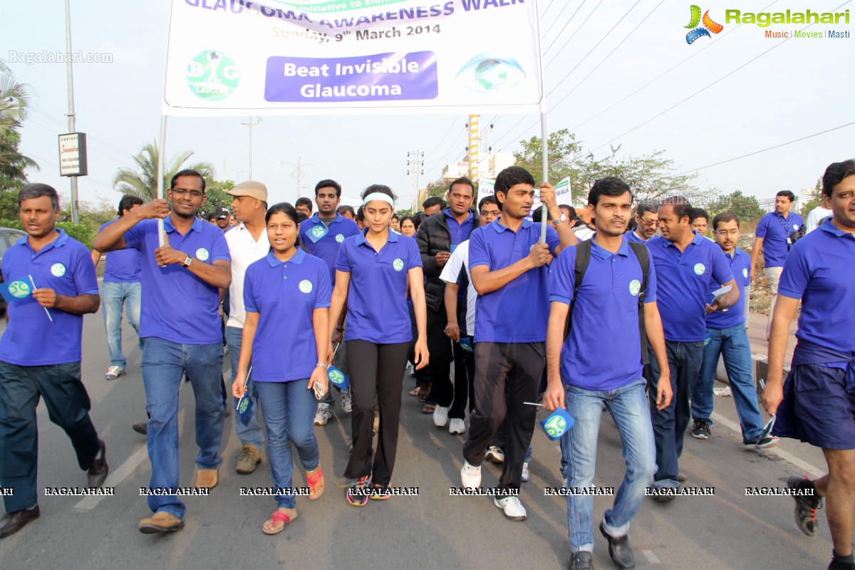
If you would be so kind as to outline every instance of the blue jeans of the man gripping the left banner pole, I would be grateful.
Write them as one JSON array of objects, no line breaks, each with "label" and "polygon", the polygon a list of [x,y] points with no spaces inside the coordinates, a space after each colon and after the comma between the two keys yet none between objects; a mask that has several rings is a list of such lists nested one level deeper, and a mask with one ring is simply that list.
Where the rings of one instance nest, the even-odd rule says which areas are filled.
[{"label": "blue jeans of the man gripping the left banner pole", "polygon": [[[222,344],[176,344],[149,337],[143,346],[143,384],[149,413],[151,489],[179,486],[178,389],[186,373],[196,400],[196,466],[216,469],[222,458]],[[174,495],[152,495],[152,512],[184,517],[184,503]]]}]

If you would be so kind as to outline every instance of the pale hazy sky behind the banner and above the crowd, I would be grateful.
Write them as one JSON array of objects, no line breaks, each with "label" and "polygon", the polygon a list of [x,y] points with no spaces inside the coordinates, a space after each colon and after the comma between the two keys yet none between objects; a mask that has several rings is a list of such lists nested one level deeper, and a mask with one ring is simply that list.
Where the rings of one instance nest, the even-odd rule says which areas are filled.
[{"label": "pale hazy sky behind the banner and above the crowd", "polygon": [[[619,156],[663,150],[675,173],[697,171],[702,189],[741,190],[761,200],[812,188],[830,162],[855,157],[852,0],[699,4],[722,24],[725,9],[848,9],[850,24],[809,30],[833,29],[849,38],[766,38],[766,30],[804,26],[728,23],[711,38],[687,44],[690,6],[673,0],[540,0],[549,130],[568,128],[596,156],[618,145]],[[117,169],[133,167],[132,156],[159,134],[169,3],[71,0],[71,24],[73,51],[112,58],[74,65],[77,131],[86,133],[89,155],[80,201],[115,205],[121,195],[110,182]],[[68,195],[68,179],[57,166],[57,135],[68,132],[66,66],[10,61],[27,52],[65,51],[62,3],[5,3],[0,26],[0,59],[33,91],[20,148],[41,170],[29,172],[29,179]],[[170,117],[167,154],[192,150],[191,161],[212,163],[217,179],[248,179],[250,129],[242,123],[250,119]],[[463,159],[467,121],[467,115],[427,114],[262,117],[251,129],[252,178],[268,185],[269,202],[292,202],[299,160],[304,196],[320,179],[338,180],[351,203],[367,185],[386,184],[398,194],[398,206],[407,208],[416,184],[407,175],[407,151],[424,152],[423,186],[445,164]],[[522,139],[540,136],[540,118],[486,113],[481,128],[482,149],[512,152]],[[731,160],[740,156],[746,157]],[[573,191],[587,195],[587,189]]]}]

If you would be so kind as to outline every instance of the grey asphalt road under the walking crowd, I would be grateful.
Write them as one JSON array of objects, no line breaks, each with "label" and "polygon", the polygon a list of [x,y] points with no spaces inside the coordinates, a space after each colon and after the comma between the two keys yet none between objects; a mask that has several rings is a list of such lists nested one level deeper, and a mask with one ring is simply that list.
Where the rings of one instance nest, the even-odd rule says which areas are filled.
[{"label": "grey asphalt road under the walking crowd", "polygon": [[[274,509],[271,497],[240,497],[242,486],[270,486],[265,460],[255,473],[239,475],[233,417],[226,420],[220,484],[209,497],[188,497],[186,527],[157,536],[136,530],[150,516],[139,488],[148,485],[145,439],[131,430],[144,419],[140,351],[126,324],[128,373],[105,381],[107,349],[100,314],[85,318],[83,377],[92,400],[91,417],[108,446],[114,497],[44,497],[44,487],[84,486],[65,434],[39,406],[39,505],[41,518],[0,541],[0,569],[15,568],[558,568],[569,563],[566,502],[545,497],[545,487],[561,486],[557,444],[538,429],[534,435],[532,480],[522,485],[528,520],[511,522],[486,497],[450,497],[460,485],[462,436],[433,426],[406,391],[404,381],[398,464],[393,486],[418,487],[417,497],[395,497],[352,508],[337,484],[348,458],[349,417],[337,405],[327,426],[315,427],[327,477],[323,496],[298,498],[298,519],[277,536],[261,532]],[[755,351],[761,351],[754,347]],[[50,347],[45,347],[50,350]],[[764,348],[763,348],[764,350]],[[226,365],[227,366],[227,365]],[[225,370],[228,373],[227,369]],[[192,391],[183,385],[181,485],[193,485]],[[545,413],[541,413],[544,415]],[[705,570],[824,568],[831,542],[824,511],[816,538],[803,536],[793,521],[793,499],[746,497],[745,488],[784,486],[790,475],[823,473],[818,450],[790,440],[777,450],[740,449],[733,398],[716,397],[712,438],[686,438],[681,471],[686,485],[714,487],[712,497],[681,497],[668,504],[646,500],[630,528],[638,567]],[[497,466],[485,464],[483,485],[494,485]],[[296,470],[296,469],[295,469]],[[617,486],[624,468],[620,438],[604,416],[595,484]],[[302,476],[302,475],[301,475]],[[295,485],[301,479],[295,479]],[[595,524],[611,497],[594,502]],[[614,567],[607,545],[595,535],[595,564]]]}]

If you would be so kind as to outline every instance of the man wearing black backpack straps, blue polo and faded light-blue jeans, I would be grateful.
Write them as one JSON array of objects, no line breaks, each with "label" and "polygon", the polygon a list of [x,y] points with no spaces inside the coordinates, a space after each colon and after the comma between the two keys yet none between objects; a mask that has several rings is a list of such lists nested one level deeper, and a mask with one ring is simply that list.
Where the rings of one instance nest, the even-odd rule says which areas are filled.
[{"label": "man wearing black backpack straps, blue polo and faded light-blue jeans", "polygon": [[[621,434],[627,473],[613,508],[605,511],[599,530],[609,543],[618,567],[634,566],[627,534],[629,521],[644,501],[656,471],[656,446],[647,412],[646,381],[642,376],[639,322],[640,295],[644,302],[646,338],[659,364],[651,385],[656,407],[671,399],[668,357],[656,304],[657,278],[652,265],[644,271],[623,232],[633,214],[629,186],[613,176],[594,182],[588,193],[597,231],[590,242],[590,260],[581,283],[575,283],[575,263],[583,246],[564,250],[551,270],[549,328],[546,333],[548,410],[567,408],[575,425],[561,438],[569,490],[593,486],[597,438],[603,409],[608,409]],[[643,250],[643,247],[641,248]],[[646,254],[646,251],[644,251]],[[565,323],[573,305],[572,326]],[[603,366],[608,362],[608,366]],[[570,567],[592,568],[593,495],[567,495]]]}]

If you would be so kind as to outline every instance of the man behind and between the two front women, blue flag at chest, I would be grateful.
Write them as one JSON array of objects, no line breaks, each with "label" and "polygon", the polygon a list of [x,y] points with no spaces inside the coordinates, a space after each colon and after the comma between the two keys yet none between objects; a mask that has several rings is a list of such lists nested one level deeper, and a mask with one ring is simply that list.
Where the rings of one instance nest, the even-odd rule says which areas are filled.
[{"label": "man behind and between the two front women, blue flag at chest", "polygon": [[[317,214],[311,215],[311,203],[309,204],[310,218],[303,220],[300,224],[300,245],[306,252],[315,257],[320,257],[329,267],[330,283],[335,287],[335,260],[339,256],[339,247],[345,238],[357,235],[359,226],[353,220],[348,220],[339,214],[338,208],[341,203],[341,185],[335,180],[321,180],[315,185],[315,203],[317,203]],[[299,211],[299,209],[297,209]],[[339,322],[335,327],[333,344],[341,342],[342,333],[345,330],[345,314],[342,311]],[[347,373],[347,367],[343,363],[345,346],[336,353],[336,367]],[[319,402],[315,411],[315,424],[323,426],[332,417],[329,411],[329,403],[332,396],[327,396],[326,402]],[[345,412],[351,413],[351,391],[347,390],[341,394],[341,407]]]}]

